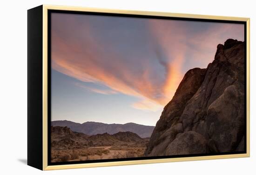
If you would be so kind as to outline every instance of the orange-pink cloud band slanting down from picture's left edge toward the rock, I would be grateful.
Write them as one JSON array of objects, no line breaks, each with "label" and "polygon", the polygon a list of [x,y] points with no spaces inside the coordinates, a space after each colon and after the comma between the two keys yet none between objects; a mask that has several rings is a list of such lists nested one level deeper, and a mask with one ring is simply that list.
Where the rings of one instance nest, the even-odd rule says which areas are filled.
[{"label": "orange-pink cloud band slanting down from picture's left edge toward the rock", "polygon": [[[93,32],[87,27],[84,35],[92,36],[92,34]],[[52,41],[53,69],[80,81],[104,84],[113,90],[103,92],[99,89],[87,88],[92,92],[100,94],[118,92],[138,97],[142,99],[143,104],[146,104],[145,101],[148,99],[150,103],[147,102],[147,106],[148,104],[153,106],[153,103],[155,106],[159,106],[161,98],[154,97],[154,94],[161,90],[161,86],[154,84],[154,81],[151,80],[150,74],[153,72],[148,69],[147,61],[143,60],[141,67],[139,67],[141,74],[134,75],[132,71],[129,71],[129,65],[121,62],[122,56],[115,53],[115,50],[108,50],[108,53],[104,53],[102,56],[103,51],[98,50],[98,48],[104,47],[104,45],[94,40],[91,40],[83,48],[81,47],[83,44],[76,44],[77,41],[73,41],[73,38],[67,40],[67,38],[59,37],[58,33],[52,32]],[[111,58],[111,61],[105,63],[105,56]],[[106,69],[106,67],[110,68]],[[138,104],[139,102],[134,106],[139,108]],[[145,105],[143,109],[146,109]]]}]

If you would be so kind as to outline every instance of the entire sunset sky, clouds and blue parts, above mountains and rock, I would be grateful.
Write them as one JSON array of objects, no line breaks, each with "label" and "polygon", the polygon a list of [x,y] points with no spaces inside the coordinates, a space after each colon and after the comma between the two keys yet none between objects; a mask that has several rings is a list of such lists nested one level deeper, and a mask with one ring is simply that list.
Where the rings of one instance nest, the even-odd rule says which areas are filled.
[{"label": "entire sunset sky, clouds and blue parts, above mountains and rock", "polygon": [[155,125],[184,74],[242,24],[52,13],[53,120]]}]

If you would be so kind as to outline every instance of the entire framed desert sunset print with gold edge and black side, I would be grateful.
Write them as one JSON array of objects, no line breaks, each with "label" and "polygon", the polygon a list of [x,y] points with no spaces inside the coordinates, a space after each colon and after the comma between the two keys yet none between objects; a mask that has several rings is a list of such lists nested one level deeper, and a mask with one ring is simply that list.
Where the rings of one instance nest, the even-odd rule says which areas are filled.
[{"label": "entire framed desert sunset print with gold edge and black side", "polygon": [[37,169],[249,156],[249,19],[28,10]]}]

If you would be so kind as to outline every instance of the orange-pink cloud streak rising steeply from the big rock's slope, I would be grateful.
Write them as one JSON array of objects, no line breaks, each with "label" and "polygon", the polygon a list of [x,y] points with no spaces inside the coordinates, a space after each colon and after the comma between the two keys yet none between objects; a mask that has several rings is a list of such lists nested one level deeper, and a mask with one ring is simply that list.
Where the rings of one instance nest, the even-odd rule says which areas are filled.
[{"label": "orange-pink cloud streak rising steeply from the big rock's slope", "polygon": [[160,100],[162,105],[166,105],[175,94],[183,77],[182,64],[187,49],[186,44],[184,44],[186,31],[177,24],[177,21],[151,20],[149,24],[155,42],[165,53],[165,60],[162,60],[161,55],[157,59],[166,69],[166,79],[162,87],[165,95]]}]

